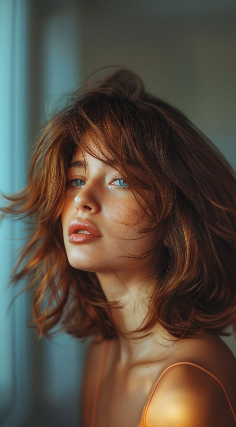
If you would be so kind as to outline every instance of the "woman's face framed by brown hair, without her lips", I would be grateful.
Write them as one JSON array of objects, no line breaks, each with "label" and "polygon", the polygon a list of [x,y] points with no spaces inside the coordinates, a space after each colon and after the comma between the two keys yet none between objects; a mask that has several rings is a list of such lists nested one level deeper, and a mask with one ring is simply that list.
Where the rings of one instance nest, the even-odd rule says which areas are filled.
[{"label": "woman's face framed by brown hair, without her lips", "polygon": [[[91,139],[89,144],[92,146]],[[148,266],[149,258],[133,260],[124,256],[140,256],[153,247],[155,231],[145,234],[138,232],[151,225],[150,219],[140,211],[129,185],[122,180],[115,166],[109,167],[86,152],[84,156],[86,175],[85,168],[75,164],[76,161],[83,161],[80,149],[72,159],[68,173],[71,182],[61,213],[69,263],[76,269],[89,272],[110,272],[110,268],[116,271],[143,269]],[[68,226],[76,219],[92,222],[101,237],[83,243],[70,240]],[[82,238],[84,235],[74,235],[75,238],[77,236]]]}]

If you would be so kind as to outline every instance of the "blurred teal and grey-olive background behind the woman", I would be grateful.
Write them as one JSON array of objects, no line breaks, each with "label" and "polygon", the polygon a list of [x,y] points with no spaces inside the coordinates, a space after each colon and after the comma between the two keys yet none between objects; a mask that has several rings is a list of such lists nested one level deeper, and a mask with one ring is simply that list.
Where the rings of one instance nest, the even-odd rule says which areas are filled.
[{"label": "blurred teal and grey-olive background behind the woman", "polygon": [[[0,0],[0,190],[26,185],[50,105],[107,65],[132,68],[236,170],[235,0]],[[111,69],[112,71],[112,69]],[[0,227],[0,425],[81,426],[88,341],[27,328],[32,295],[6,289],[25,224]],[[223,338],[236,356],[233,336]]]}]

